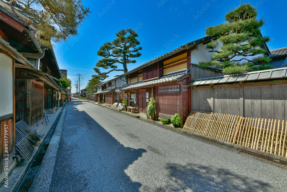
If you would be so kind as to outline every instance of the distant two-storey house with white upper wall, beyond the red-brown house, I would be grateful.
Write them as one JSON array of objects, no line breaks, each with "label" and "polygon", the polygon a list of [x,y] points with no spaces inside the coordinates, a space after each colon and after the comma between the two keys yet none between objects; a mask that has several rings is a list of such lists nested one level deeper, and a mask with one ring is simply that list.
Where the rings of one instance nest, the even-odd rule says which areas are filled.
[{"label": "distant two-storey house with white upper wall, beyond the red-brown house", "polygon": [[98,103],[111,106],[115,102],[125,100],[125,92],[120,90],[125,84],[125,77],[122,76],[117,76],[114,79],[99,83],[97,85]]}]

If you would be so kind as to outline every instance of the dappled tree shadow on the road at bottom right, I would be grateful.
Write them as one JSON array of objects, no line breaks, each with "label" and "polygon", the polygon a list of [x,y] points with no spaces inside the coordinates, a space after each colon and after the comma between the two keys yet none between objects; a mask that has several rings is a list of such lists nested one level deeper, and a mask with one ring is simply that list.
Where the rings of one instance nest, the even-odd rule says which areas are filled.
[{"label": "dappled tree shadow on the road at bottom right", "polygon": [[168,184],[164,188],[155,191],[273,191],[270,184],[261,182],[259,179],[243,177],[234,174],[227,169],[218,169],[214,166],[202,166],[200,164],[189,163],[186,166],[178,164],[168,164],[170,180],[173,184]]}]

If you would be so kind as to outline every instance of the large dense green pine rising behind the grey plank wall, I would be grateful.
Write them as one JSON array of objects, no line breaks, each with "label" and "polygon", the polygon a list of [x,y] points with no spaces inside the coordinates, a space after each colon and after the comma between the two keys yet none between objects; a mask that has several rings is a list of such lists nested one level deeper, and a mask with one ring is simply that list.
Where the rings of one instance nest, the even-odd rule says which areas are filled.
[{"label": "large dense green pine rising behind the grey plank wall", "polygon": [[199,62],[199,67],[215,65],[216,68],[223,69],[222,73],[225,74],[272,69],[268,65],[271,59],[262,48],[270,39],[262,37],[260,28],[264,21],[263,18],[257,20],[256,17],[257,9],[250,3],[243,4],[225,14],[226,23],[208,27],[206,35],[218,39],[206,46],[209,52],[214,52],[212,60]]}]

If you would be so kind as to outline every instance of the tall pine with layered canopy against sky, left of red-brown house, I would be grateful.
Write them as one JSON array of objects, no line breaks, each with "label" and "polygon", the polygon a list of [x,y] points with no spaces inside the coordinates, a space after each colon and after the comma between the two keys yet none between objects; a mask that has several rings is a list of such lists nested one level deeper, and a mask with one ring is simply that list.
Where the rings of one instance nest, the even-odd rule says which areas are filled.
[{"label": "tall pine with layered canopy against sky, left of red-brown house", "polygon": [[[129,33],[129,35],[127,35]],[[98,73],[100,80],[104,80],[109,77],[107,74],[112,71],[123,71],[127,73],[127,63],[135,63],[136,60],[131,60],[131,58],[136,58],[141,56],[139,50],[142,47],[137,47],[139,45],[139,40],[137,33],[132,29],[122,29],[116,33],[117,39],[114,39],[112,43],[104,43],[97,52],[98,56],[104,57],[99,60],[96,64],[97,67],[102,67],[103,69],[112,69],[108,72],[101,72],[99,68],[95,67],[94,71]],[[123,65],[123,69],[117,69],[116,63]]]}]

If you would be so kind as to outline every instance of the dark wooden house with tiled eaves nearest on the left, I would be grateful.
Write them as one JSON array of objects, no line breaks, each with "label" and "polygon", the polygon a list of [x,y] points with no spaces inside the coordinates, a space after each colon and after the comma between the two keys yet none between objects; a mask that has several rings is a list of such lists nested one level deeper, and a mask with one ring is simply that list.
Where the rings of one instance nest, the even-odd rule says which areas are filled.
[{"label": "dark wooden house with tiled eaves nearest on the left", "polygon": [[43,112],[48,108],[44,105],[44,90],[61,90],[61,83],[56,79],[61,78],[58,69],[53,50],[41,47],[36,41],[33,28],[11,13],[9,2],[1,0],[0,86],[1,90],[5,90],[0,93],[1,173],[5,165],[4,130],[8,130],[9,135],[6,152],[9,154],[8,164],[13,166],[15,123],[23,120],[34,131],[42,126]]}]

